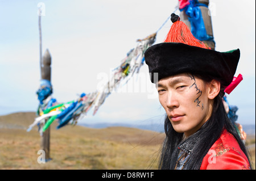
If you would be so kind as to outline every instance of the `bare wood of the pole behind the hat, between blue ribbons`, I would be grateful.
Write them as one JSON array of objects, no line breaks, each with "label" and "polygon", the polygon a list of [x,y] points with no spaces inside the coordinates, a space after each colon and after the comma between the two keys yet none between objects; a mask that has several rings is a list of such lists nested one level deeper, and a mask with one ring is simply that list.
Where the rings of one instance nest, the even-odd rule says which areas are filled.
[{"label": "bare wood of the pole behind the hat, between blue ribbons", "polygon": [[[209,5],[209,0],[198,0],[199,3],[203,3],[205,5]],[[212,18],[210,16],[210,11],[208,9],[208,7],[204,7],[204,6],[199,6],[200,10],[201,10],[201,14],[203,16],[203,20],[204,20],[204,26],[205,26],[205,30],[207,32],[207,35],[209,36],[213,36],[213,31],[212,31]],[[191,24],[188,20],[188,15],[185,13],[185,11],[181,11],[180,12],[180,19],[189,27],[189,29],[191,30]],[[215,43],[214,41],[203,41],[204,44],[208,45],[211,49],[215,49]]]}]

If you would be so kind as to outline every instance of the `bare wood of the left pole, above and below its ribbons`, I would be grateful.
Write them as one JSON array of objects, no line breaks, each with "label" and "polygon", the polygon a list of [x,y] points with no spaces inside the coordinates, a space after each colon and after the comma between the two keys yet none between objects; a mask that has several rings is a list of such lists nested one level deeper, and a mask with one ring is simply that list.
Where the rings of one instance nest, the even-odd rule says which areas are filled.
[{"label": "bare wood of the left pole, above and below its ribbons", "polygon": [[[43,64],[41,66],[41,79],[47,79],[51,82],[51,56],[47,49],[43,56]],[[47,120],[46,120],[47,122]],[[43,132],[41,138],[41,149],[46,153],[46,161],[51,160],[50,158],[50,126]]]}]

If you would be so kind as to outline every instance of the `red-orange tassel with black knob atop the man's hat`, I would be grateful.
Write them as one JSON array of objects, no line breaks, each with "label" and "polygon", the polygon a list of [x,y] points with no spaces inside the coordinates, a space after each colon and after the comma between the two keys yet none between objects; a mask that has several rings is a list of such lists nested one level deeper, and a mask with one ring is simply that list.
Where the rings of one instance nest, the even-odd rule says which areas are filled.
[{"label": "red-orange tassel with black knob atop the man's hat", "polygon": [[184,43],[195,47],[210,49],[210,47],[200,40],[197,40],[192,35],[188,26],[184,22],[180,21],[180,17],[178,15],[172,13],[171,21],[173,24],[164,40],[164,43]]}]

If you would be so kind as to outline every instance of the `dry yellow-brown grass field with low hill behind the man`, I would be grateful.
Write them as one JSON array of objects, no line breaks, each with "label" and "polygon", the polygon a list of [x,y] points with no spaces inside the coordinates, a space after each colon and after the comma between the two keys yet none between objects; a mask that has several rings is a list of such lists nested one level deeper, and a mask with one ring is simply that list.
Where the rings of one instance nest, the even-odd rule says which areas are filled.
[{"label": "dry yellow-brown grass field with low hill behind the man", "polygon": [[[164,134],[135,128],[51,125],[51,161],[38,163],[40,135],[26,132],[34,112],[0,116],[0,169],[158,169]],[[248,143],[255,169],[255,136]]]}]

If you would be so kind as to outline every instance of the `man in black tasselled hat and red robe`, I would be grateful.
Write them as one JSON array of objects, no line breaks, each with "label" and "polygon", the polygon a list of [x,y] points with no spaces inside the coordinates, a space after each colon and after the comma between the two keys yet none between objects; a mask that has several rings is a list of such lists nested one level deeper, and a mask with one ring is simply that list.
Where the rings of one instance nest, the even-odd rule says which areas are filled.
[{"label": "man in black tasselled hat and red robe", "polygon": [[144,53],[166,111],[159,169],[250,169],[245,145],[222,103],[240,50],[210,50],[179,16],[171,16],[174,24],[164,43]]}]

